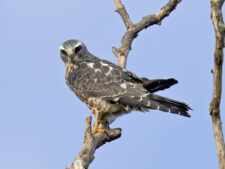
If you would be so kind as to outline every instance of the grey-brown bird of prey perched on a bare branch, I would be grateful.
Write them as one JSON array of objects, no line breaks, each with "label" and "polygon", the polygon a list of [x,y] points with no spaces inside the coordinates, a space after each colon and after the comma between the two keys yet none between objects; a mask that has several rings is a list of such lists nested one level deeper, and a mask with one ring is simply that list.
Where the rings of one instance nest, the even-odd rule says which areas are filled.
[{"label": "grey-brown bird of prey perched on a bare branch", "polygon": [[79,40],[60,46],[66,66],[66,83],[87,104],[95,117],[92,133],[103,133],[99,124],[111,124],[133,110],[157,109],[190,117],[187,104],[153,94],[177,83],[175,79],[139,78],[134,73],[92,55]]}]

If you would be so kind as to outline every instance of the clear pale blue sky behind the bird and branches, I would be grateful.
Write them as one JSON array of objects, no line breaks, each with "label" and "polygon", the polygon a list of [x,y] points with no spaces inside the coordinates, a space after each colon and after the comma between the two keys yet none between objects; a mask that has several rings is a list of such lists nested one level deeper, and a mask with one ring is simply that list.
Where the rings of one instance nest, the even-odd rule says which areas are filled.
[{"label": "clear pale blue sky behind the bird and branches", "polygon": [[[136,23],[167,0],[123,3]],[[114,10],[113,0],[0,1],[1,169],[64,169],[74,160],[90,111],[65,83],[59,46],[80,39],[94,55],[117,63],[112,46],[120,46],[125,26]],[[123,116],[112,124],[122,137],[98,149],[90,169],[218,168],[209,116],[213,52],[210,1],[183,0],[161,26],[142,31],[127,69],[176,78],[179,84],[158,94],[188,103],[192,118],[160,111]],[[223,122],[224,103],[223,95]]]}]

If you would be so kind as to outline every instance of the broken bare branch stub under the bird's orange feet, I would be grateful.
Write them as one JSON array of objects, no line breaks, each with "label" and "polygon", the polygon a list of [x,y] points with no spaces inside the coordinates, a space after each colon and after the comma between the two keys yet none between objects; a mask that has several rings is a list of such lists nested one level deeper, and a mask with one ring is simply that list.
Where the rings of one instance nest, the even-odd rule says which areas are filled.
[{"label": "broken bare branch stub under the bird's orange feet", "polygon": [[121,129],[109,129],[104,126],[105,133],[91,134],[91,116],[85,121],[85,135],[81,151],[70,166],[66,169],[87,169],[90,163],[94,160],[94,154],[97,148],[118,139],[121,136]]}]

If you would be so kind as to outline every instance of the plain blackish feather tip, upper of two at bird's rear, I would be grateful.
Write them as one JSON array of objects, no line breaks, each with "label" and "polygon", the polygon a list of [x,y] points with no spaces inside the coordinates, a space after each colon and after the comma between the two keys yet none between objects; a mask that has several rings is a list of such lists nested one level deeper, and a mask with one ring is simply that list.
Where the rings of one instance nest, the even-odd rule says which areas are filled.
[{"label": "plain blackish feather tip, upper of two at bird's rear", "polygon": [[144,88],[146,88],[150,93],[157,92],[159,90],[164,90],[170,86],[177,84],[178,81],[171,79],[153,79],[149,80],[147,78],[141,78]]}]

